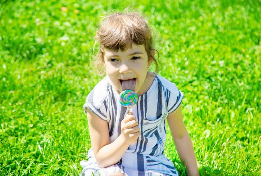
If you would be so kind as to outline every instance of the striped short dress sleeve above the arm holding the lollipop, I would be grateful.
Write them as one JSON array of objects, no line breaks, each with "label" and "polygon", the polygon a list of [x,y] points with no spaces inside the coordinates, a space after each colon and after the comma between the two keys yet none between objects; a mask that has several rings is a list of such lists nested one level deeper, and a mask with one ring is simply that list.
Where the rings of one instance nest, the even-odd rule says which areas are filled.
[{"label": "striped short dress sleeve above the arm holding the lollipop", "polygon": [[107,103],[104,96],[98,94],[97,91],[92,90],[87,96],[83,105],[84,112],[87,113],[87,109],[92,111],[98,117],[103,120],[107,120]]}]

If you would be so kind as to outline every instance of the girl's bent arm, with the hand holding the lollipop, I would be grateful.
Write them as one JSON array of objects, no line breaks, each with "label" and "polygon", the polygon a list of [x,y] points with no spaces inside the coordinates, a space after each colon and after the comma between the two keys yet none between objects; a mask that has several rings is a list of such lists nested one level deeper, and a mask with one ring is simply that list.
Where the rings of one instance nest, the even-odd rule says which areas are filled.
[{"label": "girl's bent arm, with the hand holding the lollipop", "polygon": [[134,120],[133,115],[127,115],[122,121],[121,129],[123,128],[123,132],[112,143],[110,143],[107,122],[90,110],[87,110],[87,118],[94,156],[100,167],[116,164],[129,145],[140,136],[139,127],[137,127],[138,123]]}]

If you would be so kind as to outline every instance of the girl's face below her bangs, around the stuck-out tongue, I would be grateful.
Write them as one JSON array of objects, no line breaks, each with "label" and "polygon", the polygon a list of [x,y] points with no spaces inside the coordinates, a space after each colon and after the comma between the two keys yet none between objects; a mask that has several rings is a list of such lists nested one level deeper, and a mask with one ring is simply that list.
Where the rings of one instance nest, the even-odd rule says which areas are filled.
[{"label": "girl's face below her bangs, around the stuck-out tongue", "polygon": [[132,44],[132,47],[123,52],[104,49],[106,73],[118,93],[123,91],[120,80],[134,79],[134,91],[138,95],[143,94],[151,61],[148,59],[144,45]]}]

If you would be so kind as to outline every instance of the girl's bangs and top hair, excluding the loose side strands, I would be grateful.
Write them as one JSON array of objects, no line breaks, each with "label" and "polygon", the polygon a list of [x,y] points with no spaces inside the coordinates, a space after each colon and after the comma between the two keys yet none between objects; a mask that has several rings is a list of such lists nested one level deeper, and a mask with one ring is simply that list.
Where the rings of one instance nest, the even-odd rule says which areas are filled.
[{"label": "girl's bangs and top hair, excluding the loose side strands", "polygon": [[124,51],[132,44],[143,45],[150,41],[150,30],[143,19],[132,16],[116,16],[105,19],[97,37],[100,46],[112,51]]}]

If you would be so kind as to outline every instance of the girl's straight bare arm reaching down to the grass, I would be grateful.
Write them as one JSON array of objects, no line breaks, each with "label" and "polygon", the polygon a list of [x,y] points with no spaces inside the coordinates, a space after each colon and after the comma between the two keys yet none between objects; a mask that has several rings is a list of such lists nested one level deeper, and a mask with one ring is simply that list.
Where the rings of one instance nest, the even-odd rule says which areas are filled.
[{"label": "girl's straight bare arm reaching down to the grass", "polygon": [[167,120],[180,160],[185,163],[189,175],[199,175],[193,145],[183,122],[181,105],[168,114]]}]

